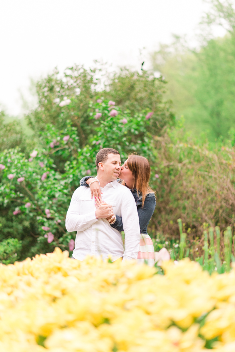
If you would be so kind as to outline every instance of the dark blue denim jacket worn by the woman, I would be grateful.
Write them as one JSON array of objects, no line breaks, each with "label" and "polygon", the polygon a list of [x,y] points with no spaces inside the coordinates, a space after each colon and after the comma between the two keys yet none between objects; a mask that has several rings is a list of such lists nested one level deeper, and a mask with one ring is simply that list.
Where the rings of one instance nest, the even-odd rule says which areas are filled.
[{"label": "dark blue denim jacket worn by the woman", "polygon": [[[89,187],[86,181],[93,176],[85,176],[81,179],[80,185]],[[118,181],[119,182],[119,181]],[[138,215],[139,215],[139,224],[140,224],[140,233],[147,234],[147,227],[150,222],[150,219],[153,215],[156,199],[154,193],[148,193],[145,198],[144,207],[142,207],[142,194],[137,194],[136,189],[131,189],[131,193],[135,199]],[[118,231],[123,231],[122,218],[116,215],[116,221],[111,225],[113,228],[116,228]]]}]

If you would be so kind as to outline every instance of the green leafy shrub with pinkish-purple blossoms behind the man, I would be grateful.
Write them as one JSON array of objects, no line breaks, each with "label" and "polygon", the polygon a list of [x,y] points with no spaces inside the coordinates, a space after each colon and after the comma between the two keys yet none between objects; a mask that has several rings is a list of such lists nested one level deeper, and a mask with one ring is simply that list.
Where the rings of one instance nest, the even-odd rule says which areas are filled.
[{"label": "green leafy shrub with pinkish-purple blossoms behind the man", "polygon": [[[111,114],[114,106],[116,113]],[[95,156],[102,147],[118,149],[123,160],[133,151],[151,159],[149,129],[154,121],[145,115],[131,116],[114,101],[98,99],[89,106],[94,133],[83,148],[77,128],[67,120],[62,130],[47,124],[39,133],[40,143],[29,153],[19,149],[0,153],[0,207],[4,212],[0,241],[9,237],[22,241],[19,259],[51,252],[55,246],[72,251],[75,232],[66,231],[65,216],[80,178],[96,172]]]}]

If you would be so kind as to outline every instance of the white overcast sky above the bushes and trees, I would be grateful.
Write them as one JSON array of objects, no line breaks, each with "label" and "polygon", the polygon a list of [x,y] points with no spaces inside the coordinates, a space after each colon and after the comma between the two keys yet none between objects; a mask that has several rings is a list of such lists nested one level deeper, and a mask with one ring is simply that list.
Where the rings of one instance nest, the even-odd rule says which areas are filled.
[{"label": "white overcast sky above the bushes and trees", "polygon": [[193,35],[203,0],[1,0],[0,103],[21,112],[19,90],[54,67],[140,63],[171,34]]}]

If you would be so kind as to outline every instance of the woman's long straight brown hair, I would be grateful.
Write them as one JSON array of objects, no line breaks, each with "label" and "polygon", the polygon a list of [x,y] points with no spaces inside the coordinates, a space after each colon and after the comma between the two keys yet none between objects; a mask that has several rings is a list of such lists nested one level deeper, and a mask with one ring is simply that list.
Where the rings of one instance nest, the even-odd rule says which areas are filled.
[{"label": "woman's long straight brown hair", "polygon": [[[146,195],[154,193],[148,184],[151,174],[150,163],[141,155],[131,154],[127,158],[127,166],[135,178],[134,188],[136,188],[138,196],[139,193],[142,193],[142,206],[144,206]],[[122,184],[125,186],[124,181]]]}]

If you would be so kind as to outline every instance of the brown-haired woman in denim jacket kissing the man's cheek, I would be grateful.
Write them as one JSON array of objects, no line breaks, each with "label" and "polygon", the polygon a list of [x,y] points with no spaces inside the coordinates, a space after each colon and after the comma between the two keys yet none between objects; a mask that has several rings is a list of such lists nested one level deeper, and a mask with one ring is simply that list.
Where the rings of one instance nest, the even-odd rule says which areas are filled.
[{"label": "brown-haired woman in denim jacket kissing the man's cheek", "polygon": [[[129,155],[128,159],[121,166],[120,182],[123,186],[128,187],[135,199],[139,215],[141,239],[139,244],[138,262],[147,262],[148,265],[154,265],[154,247],[150,236],[147,233],[147,226],[153,215],[156,200],[154,191],[150,188],[148,182],[150,179],[150,163],[148,159],[140,155]],[[94,181],[91,176],[83,177],[80,181],[81,186],[89,186]],[[96,208],[102,203],[101,189],[98,182],[90,185],[91,197],[95,196]],[[110,224],[111,225],[111,224]],[[111,225],[118,231],[123,231],[122,218],[116,215],[116,221]]]}]

